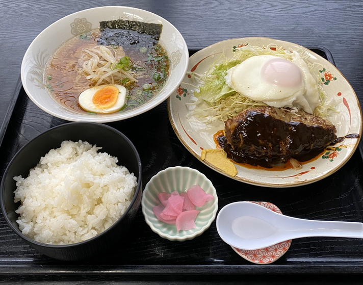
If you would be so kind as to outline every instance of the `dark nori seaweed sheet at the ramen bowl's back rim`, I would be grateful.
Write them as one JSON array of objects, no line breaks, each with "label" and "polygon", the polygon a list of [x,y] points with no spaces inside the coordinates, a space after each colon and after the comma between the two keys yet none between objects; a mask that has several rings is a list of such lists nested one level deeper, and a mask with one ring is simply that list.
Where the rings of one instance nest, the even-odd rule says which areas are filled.
[{"label": "dark nori seaweed sheet at the ramen bowl's back rim", "polygon": [[151,47],[158,43],[163,25],[129,20],[112,20],[99,22],[101,45],[123,46],[139,45]]}]

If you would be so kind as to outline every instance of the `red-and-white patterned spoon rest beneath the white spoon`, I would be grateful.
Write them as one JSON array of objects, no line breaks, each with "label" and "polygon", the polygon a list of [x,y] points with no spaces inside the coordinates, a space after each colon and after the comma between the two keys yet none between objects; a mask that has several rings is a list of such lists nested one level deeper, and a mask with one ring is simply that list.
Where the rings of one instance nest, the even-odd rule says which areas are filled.
[{"label": "red-and-white patterned spoon rest beneath the white spoon", "polygon": [[[276,205],[270,202],[254,202],[254,201],[248,201],[248,202],[264,206],[265,208],[273,212],[282,214],[280,209],[278,209]],[[291,242],[292,241],[289,240],[269,247],[255,249],[255,250],[244,250],[233,246],[232,248],[239,255],[245,258],[245,260],[248,260],[256,264],[269,264],[275,262],[276,260],[278,260],[278,258],[280,258],[283,254],[285,254],[290,248]]]}]

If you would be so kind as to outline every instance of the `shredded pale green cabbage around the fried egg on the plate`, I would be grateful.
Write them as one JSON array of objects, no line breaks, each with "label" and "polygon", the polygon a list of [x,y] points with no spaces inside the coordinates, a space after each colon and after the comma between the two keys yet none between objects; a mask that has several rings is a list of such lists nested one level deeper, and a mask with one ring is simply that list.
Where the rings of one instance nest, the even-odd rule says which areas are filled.
[{"label": "shredded pale green cabbage around the fried egg on the plate", "polygon": [[[306,49],[297,50],[299,55],[304,59],[309,67],[310,73],[316,74],[319,98],[321,104],[314,110],[314,115],[325,117],[328,111],[332,110],[336,104],[335,101],[326,103],[327,97],[320,84],[319,72],[316,65],[307,61],[308,52]],[[194,79],[199,81],[199,86],[194,91],[194,96],[198,99],[192,104],[195,105],[194,115],[205,123],[211,123],[215,120],[225,122],[243,110],[251,107],[267,106],[263,102],[251,100],[242,94],[231,89],[226,83],[224,76],[227,70],[240,64],[244,60],[258,55],[273,55],[287,60],[292,60],[292,52],[282,49],[276,45],[267,47],[258,47],[246,45],[234,47],[234,58],[225,59],[224,62],[213,64],[204,74],[193,73]]]}]

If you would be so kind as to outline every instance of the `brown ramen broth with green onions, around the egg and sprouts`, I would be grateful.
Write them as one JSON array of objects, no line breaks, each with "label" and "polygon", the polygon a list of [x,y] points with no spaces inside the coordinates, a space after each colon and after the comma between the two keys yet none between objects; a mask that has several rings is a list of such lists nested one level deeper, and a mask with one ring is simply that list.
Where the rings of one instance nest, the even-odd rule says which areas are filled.
[{"label": "brown ramen broth with green onions, around the egg and sprouts", "polygon": [[[49,93],[60,105],[78,113],[88,112],[81,108],[77,98],[83,91],[96,84],[96,81],[86,79],[88,74],[82,68],[84,62],[81,60],[82,50],[99,45],[100,35],[101,33],[95,30],[88,36],[74,37],[61,45],[46,64],[44,82]],[[169,59],[161,45],[143,47],[127,44],[122,47],[114,45],[108,47],[116,51],[117,60],[124,55],[129,57],[131,71],[138,74],[137,82],[128,82],[128,84],[114,82],[114,84],[123,85],[127,90],[126,106],[118,112],[138,108],[159,93],[167,80],[169,71]]]}]

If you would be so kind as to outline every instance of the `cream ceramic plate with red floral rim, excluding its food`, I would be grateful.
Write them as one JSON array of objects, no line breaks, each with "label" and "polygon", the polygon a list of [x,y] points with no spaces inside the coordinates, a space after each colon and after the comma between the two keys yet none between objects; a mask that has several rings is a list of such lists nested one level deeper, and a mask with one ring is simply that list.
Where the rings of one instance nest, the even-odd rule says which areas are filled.
[{"label": "cream ceramic plate with red floral rim, excluding its food", "polygon": [[[335,111],[330,112],[327,119],[336,126],[336,136],[345,139],[329,146],[315,160],[302,165],[299,170],[286,169],[271,171],[236,165],[237,174],[230,175],[214,164],[201,160],[203,149],[214,149],[214,134],[224,129],[222,121],[206,124],[195,116],[193,102],[198,91],[198,81],[192,72],[203,74],[211,66],[232,58],[236,47],[245,45],[258,47],[281,47],[286,50],[299,50],[305,59],[319,66],[321,86],[328,97],[336,102]],[[300,45],[270,38],[240,38],[218,42],[206,47],[190,57],[187,74],[178,89],[168,99],[169,119],[175,133],[185,147],[203,163],[230,178],[257,186],[294,187],[316,182],[340,169],[352,156],[356,149],[362,128],[361,110],[354,90],[330,62]],[[349,138],[352,135],[353,138]],[[358,136],[357,136],[358,135]],[[358,138],[357,138],[358,137]]]}]

